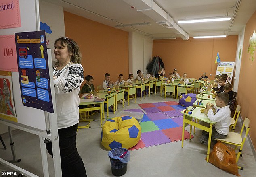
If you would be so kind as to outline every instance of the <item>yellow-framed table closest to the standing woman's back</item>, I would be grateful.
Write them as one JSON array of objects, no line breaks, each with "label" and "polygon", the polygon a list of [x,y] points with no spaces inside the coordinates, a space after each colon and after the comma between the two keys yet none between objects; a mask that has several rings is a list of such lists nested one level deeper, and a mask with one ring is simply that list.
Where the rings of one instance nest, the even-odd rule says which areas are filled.
[{"label": "yellow-framed table closest to the standing woman's back", "polygon": [[[80,99],[80,104],[79,105],[100,105],[100,107],[86,107],[86,108],[82,108],[79,109],[79,113],[82,112],[87,112],[87,111],[95,111],[95,110],[100,110],[100,114],[101,114],[101,127],[102,127],[102,118],[103,121],[105,119],[105,115],[104,115],[104,102],[85,102],[86,99]],[[90,123],[89,123],[90,124]],[[88,125],[86,126],[78,126],[78,128],[88,128]]]}]

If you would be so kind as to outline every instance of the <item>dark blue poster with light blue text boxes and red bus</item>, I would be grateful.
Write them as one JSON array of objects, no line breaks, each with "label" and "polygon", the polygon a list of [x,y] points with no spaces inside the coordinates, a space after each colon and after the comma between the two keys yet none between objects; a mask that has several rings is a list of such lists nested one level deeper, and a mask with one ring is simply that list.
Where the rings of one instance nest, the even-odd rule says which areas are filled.
[{"label": "dark blue poster with light blue text boxes and red bus", "polygon": [[53,113],[45,31],[15,33],[24,106]]}]

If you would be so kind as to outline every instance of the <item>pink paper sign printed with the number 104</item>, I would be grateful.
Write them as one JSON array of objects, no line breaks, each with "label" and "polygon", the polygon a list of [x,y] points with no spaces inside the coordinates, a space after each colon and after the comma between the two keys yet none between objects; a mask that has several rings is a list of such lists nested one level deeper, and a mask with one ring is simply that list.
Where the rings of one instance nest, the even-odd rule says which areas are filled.
[{"label": "pink paper sign printed with the number 104", "polygon": [[18,71],[14,35],[0,36],[0,70]]}]

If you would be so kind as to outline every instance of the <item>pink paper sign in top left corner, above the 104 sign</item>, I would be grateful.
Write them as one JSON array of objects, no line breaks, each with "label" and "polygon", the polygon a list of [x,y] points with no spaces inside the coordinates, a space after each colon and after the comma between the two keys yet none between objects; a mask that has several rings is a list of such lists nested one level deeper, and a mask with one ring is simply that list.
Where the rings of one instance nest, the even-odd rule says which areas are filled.
[{"label": "pink paper sign in top left corner, above the 104 sign", "polygon": [[0,29],[20,26],[19,0],[0,0]]}]

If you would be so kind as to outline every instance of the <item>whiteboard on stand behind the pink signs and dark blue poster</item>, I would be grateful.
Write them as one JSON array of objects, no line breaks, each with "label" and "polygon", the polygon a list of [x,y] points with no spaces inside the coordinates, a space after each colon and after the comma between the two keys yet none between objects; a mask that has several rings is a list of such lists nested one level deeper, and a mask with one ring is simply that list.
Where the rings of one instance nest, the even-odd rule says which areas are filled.
[{"label": "whiteboard on stand behind the pink signs and dark blue poster", "polygon": [[[37,6],[36,6],[35,0],[19,1],[19,6],[20,6],[20,12],[21,12],[21,27],[0,29],[0,35],[14,35],[14,33],[16,32],[37,31],[37,29],[40,29],[39,14],[37,13],[38,10],[36,10]],[[49,69],[52,68],[51,52],[49,51],[48,51],[48,64],[49,64]],[[37,128],[40,130],[46,130],[44,111],[40,109],[31,108],[31,107],[25,107],[22,105],[18,72],[12,72],[12,84],[13,84],[13,100],[14,100],[18,123],[21,123],[25,126]],[[53,94],[52,99],[54,101],[55,100],[54,91],[52,92],[52,94]],[[53,104],[55,107],[55,101]],[[1,117],[0,119],[3,121],[8,121],[6,119],[2,119]]]}]

